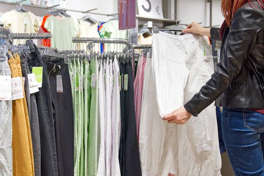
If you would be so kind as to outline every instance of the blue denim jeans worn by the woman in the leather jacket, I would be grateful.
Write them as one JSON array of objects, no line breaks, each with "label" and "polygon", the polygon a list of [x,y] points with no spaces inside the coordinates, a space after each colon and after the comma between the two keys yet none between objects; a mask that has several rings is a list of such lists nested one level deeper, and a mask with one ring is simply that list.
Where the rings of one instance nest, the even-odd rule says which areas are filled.
[{"label": "blue denim jeans worn by the woman in the leather jacket", "polygon": [[264,115],[224,107],[222,131],[235,175],[263,176]]}]

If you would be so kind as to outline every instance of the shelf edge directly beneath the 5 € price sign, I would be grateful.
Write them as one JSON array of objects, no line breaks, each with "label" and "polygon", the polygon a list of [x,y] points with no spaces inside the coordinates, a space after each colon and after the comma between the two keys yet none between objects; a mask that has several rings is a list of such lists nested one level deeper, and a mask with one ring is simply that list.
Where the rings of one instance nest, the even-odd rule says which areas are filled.
[{"label": "shelf edge directly beneath the 5 \u20ac price sign", "polygon": [[140,16],[140,15],[137,15],[136,17],[139,20],[139,25],[146,24],[148,23],[148,21],[152,21],[153,26],[157,26],[159,28],[176,24],[176,20],[171,20],[171,19],[151,18],[151,17]]}]

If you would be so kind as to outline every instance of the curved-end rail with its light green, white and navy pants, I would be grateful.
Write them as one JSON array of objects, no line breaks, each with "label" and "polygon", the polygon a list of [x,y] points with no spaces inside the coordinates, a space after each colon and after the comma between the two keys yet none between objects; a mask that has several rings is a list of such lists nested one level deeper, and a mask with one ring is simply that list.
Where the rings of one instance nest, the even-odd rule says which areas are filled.
[{"label": "curved-end rail with its light green, white and navy pants", "polygon": [[87,163],[84,171],[88,175],[141,175],[131,43],[94,38],[73,38],[73,42],[125,44],[128,48],[125,53],[93,53],[90,63],[87,59],[69,60],[75,114],[75,175],[82,173]]}]

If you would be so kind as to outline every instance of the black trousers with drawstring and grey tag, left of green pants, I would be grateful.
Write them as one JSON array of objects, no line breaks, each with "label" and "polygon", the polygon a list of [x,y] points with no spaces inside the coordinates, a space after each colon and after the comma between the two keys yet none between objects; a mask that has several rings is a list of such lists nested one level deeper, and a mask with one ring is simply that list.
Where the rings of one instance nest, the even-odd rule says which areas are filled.
[{"label": "black trousers with drawstring and grey tag, left of green pants", "polygon": [[[61,58],[44,58],[50,83],[57,148],[58,175],[74,175],[73,98],[68,65]],[[57,92],[56,76],[61,75],[63,92]]]}]

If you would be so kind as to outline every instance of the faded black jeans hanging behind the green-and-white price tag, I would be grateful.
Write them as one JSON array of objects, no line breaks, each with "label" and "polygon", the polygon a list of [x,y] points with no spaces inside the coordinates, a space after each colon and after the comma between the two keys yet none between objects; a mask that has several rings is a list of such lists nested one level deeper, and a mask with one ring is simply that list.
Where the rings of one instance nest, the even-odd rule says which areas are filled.
[{"label": "faded black jeans hanging behind the green-and-white price tag", "polygon": [[39,118],[41,175],[56,176],[58,175],[57,153],[48,74],[41,53],[36,46],[35,50],[35,52],[31,53],[31,59],[28,60],[28,66],[31,73],[33,66],[43,67],[42,88],[39,88],[39,92],[35,93]]}]

